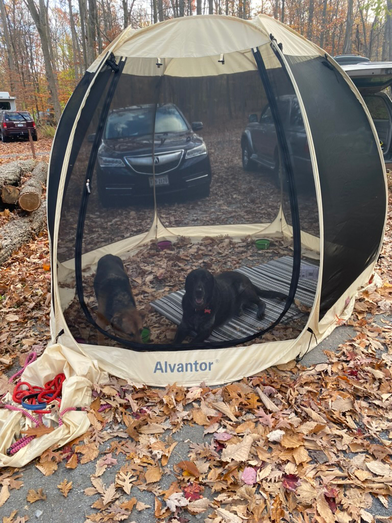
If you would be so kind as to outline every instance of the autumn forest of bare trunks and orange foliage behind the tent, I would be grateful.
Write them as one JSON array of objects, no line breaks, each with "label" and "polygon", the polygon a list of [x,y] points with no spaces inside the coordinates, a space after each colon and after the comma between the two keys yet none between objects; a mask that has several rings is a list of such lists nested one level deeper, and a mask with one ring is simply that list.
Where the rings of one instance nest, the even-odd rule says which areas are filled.
[{"label": "autumn forest of bare trunks and orange foliage behind the tent", "polygon": [[96,56],[128,26],[198,14],[281,20],[332,56],[392,60],[392,0],[0,0],[0,91],[50,135]]}]

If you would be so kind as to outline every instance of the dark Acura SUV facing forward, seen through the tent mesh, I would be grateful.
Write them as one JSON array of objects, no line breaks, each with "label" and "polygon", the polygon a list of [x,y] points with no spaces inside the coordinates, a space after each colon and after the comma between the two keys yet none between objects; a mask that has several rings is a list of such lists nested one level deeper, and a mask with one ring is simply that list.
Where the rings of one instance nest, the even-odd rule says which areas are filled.
[{"label": "dark Acura SUV facing forward, seen through the tent mesh", "polygon": [[[96,166],[103,205],[118,197],[152,199],[154,185],[157,197],[210,194],[210,158],[204,140],[196,134],[203,124],[189,124],[174,104],[157,106],[155,126],[154,113],[152,104],[109,113]],[[88,139],[94,140],[95,134]]]}]

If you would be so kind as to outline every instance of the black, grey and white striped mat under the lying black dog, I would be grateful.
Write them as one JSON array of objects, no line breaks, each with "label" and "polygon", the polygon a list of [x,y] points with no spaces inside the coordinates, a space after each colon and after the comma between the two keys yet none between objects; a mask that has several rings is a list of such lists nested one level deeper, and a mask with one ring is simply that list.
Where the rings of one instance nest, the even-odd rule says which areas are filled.
[{"label": "black, grey and white striped mat under the lying black dog", "polygon": [[[282,258],[267,261],[267,263],[256,267],[241,267],[236,269],[245,274],[251,282],[260,289],[276,290],[289,293],[291,275],[293,270],[293,258],[284,256]],[[302,304],[311,307],[317,287],[318,266],[309,262],[301,261],[301,271],[295,298]],[[182,318],[182,296],[185,290],[171,292],[164,298],[151,302],[153,308],[167,317],[171,322],[179,325]],[[285,302],[279,299],[266,299],[266,315],[262,320],[256,317],[257,306],[251,305],[241,316],[233,317],[229,322],[214,330],[207,342],[228,341],[231,339],[244,338],[260,332],[278,319],[283,311]],[[301,317],[303,313],[292,304],[285,314],[282,323]]]}]

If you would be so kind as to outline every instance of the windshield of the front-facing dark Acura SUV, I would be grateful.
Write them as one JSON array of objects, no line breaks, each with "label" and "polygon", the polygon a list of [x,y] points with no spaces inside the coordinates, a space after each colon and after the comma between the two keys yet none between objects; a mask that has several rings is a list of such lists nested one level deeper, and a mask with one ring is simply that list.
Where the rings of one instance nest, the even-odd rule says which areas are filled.
[{"label": "windshield of the front-facing dark Acura SUV", "polygon": [[[112,112],[108,118],[105,138],[139,137],[153,132],[153,114],[155,107],[140,106]],[[177,108],[173,105],[157,107],[155,133],[186,132],[188,126]]]}]

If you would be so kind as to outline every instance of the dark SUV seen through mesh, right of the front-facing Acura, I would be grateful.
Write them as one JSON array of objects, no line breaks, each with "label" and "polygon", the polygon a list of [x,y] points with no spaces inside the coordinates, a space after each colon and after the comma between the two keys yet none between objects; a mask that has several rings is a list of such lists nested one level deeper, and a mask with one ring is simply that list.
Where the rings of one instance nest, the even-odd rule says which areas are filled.
[{"label": "dark SUV seen through mesh, right of the front-facing Acura", "polygon": [[[293,168],[304,180],[308,180],[312,176],[312,164],[298,99],[294,95],[282,95],[276,101]],[[270,170],[276,185],[280,186],[278,139],[269,105],[259,115],[249,115],[248,125],[241,136],[241,151],[245,170],[253,170],[260,165]]]}]

